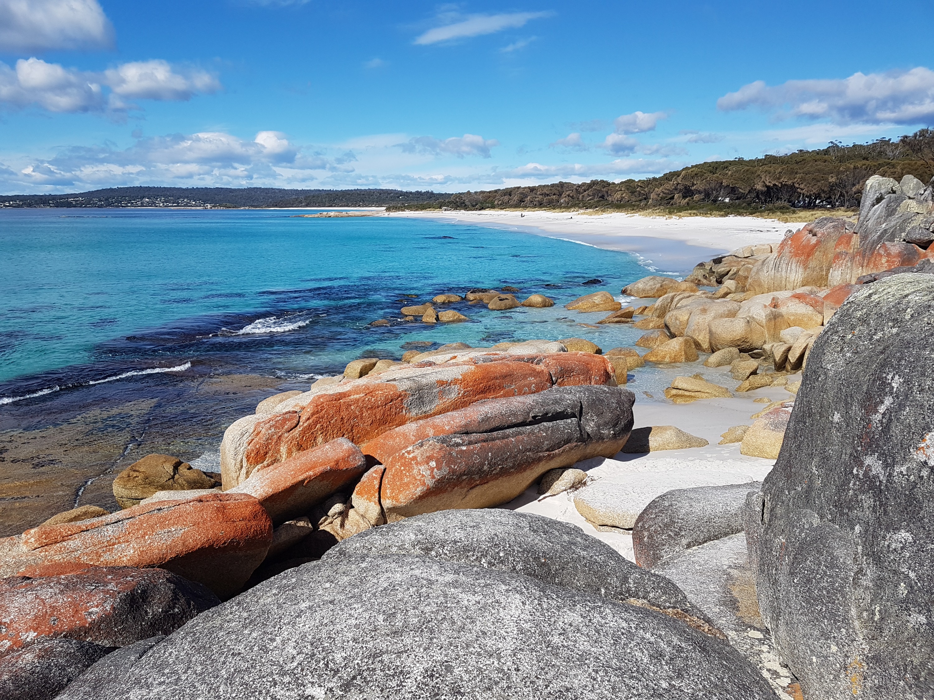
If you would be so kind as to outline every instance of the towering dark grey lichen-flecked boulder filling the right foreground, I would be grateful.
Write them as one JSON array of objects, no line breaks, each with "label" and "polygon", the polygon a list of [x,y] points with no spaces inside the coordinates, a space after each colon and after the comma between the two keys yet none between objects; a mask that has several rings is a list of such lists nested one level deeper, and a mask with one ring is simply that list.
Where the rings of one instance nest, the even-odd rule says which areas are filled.
[{"label": "towering dark grey lichen-flecked boulder filling the right foreground", "polygon": [[746,535],[809,700],[934,696],[934,277],[856,292],[818,336]]}]

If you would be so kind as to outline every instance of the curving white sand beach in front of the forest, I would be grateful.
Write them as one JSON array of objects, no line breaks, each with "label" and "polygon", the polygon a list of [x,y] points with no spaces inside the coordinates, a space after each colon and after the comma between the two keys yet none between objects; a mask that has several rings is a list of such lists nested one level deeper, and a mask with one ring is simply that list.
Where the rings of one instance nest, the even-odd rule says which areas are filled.
[{"label": "curving white sand beach in front of the forest", "polygon": [[403,212],[391,217],[525,231],[637,256],[650,272],[681,273],[702,259],[757,243],[778,243],[803,224],[756,217],[643,217],[566,212]]}]

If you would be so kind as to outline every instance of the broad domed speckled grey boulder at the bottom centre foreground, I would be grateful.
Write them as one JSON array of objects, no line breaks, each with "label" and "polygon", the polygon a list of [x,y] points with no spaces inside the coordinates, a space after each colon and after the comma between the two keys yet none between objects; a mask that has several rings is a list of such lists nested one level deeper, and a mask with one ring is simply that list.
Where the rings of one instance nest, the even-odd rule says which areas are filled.
[{"label": "broad domed speckled grey boulder at the bottom centre foreground", "polygon": [[199,615],[98,700],[711,697],[774,698],[726,642],[651,610],[505,571],[348,555]]}]

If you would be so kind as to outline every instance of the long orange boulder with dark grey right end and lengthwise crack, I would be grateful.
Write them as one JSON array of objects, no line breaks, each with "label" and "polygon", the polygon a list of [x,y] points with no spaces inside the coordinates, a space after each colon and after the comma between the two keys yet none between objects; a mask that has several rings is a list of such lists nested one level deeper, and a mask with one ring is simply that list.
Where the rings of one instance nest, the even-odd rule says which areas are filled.
[{"label": "long orange boulder with dark grey right end and lengthwise crack", "polygon": [[362,445],[385,473],[380,503],[391,523],[423,512],[488,508],[545,471],[616,455],[632,428],[631,392],[569,386],[480,401],[398,427]]}]

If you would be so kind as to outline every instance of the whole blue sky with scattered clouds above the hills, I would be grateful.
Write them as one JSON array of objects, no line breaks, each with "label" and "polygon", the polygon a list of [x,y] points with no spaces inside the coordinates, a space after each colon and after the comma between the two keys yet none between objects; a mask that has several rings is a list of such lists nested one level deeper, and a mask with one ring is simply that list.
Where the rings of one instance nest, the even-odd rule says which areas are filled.
[{"label": "whole blue sky with scattered clouds above the hills", "polygon": [[621,180],[934,126],[934,6],[0,0],[0,192]]}]

